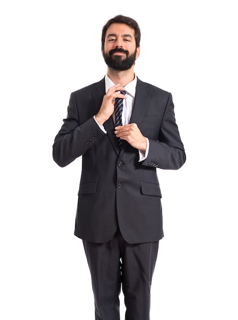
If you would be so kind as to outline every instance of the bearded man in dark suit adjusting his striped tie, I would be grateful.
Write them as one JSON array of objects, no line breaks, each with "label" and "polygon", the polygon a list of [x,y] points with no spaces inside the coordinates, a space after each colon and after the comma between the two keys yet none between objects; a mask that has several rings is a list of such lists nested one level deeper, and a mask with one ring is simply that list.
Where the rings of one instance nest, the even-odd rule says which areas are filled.
[{"label": "bearded man in dark suit adjusting his striped tie", "polygon": [[149,320],[163,237],[156,168],[179,169],[185,162],[171,94],[134,74],[139,42],[135,20],[118,15],[107,22],[107,75],[72,93],[53,146],[61,167],[83,156],[75,235],[83,239],[97,320],[120,319],[121,285],[126,319]]}]

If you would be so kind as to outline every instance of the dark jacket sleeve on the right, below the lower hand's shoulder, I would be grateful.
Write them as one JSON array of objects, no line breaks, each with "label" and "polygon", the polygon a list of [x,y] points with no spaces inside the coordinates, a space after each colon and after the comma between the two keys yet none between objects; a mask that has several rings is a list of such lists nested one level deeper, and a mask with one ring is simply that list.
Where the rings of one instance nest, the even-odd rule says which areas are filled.
[{"label": "dark jacket sleeve on the right, below the lower hand's shoulder", "polygon": [[149,143],[149,153],[142,165],[177,170],[185,163],[186,155],[175,121],[171,94],[164,110],[158,141],[150,139]]}]

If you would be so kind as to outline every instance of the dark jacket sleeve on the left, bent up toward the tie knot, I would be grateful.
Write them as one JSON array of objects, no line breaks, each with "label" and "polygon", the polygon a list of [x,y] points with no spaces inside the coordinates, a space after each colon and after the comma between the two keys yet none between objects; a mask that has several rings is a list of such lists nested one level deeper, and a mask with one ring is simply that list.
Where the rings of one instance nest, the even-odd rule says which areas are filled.
[{"label": "dark jacket sleeve on the left, bent up toward the tie knot", "polygon": [[79,118],[75,96],[72,93],[69,99],[67,118],[63,120],[63,125],[56,135],[53,145],[53,159],[60,167],[65,167],[73,162],[105,135],[93,117],[83,123]]}]

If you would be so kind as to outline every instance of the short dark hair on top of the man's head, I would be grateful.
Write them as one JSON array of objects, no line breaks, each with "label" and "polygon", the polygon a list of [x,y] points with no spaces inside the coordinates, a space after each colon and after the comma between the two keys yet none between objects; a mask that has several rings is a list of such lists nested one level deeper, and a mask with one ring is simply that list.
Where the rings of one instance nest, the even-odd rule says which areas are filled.
[{"label": "short dark hair on top of the man's head", "polygon": [[126,16],[120,14],[120,15],[116,15],[116,16],[114,16],[114,18],[111,18],[110,20],[108,20],[106,25],[103,27],[103,30],[102,30],[102,51],[104,50],[106,32],[111,24],[124,24],[124,25],[127,25],[130,28],[132,28],[135,32],[136,48],[139,47],[140,29],[139,29],[137,22],[132,18],[129,18],[129,17],[126,17]]}]

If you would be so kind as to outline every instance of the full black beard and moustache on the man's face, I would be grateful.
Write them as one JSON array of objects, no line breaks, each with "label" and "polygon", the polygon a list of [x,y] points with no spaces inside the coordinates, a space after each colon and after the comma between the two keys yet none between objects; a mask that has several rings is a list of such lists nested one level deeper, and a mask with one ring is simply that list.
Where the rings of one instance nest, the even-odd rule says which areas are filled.
[{"label": "full black beard and moustache on the man's face", "polygon": [[[126,54],[126,58],[123,56],[113,56],[114,52],[123,52]],[[132,65],[135,64],[136,58],[136,50],[133,54],[129,55],[128,50],[124,50],[122,48],[115,48],[110,50],[108,53],[103,51],[103,57],[110,69],[117,70],[117,71],[125,71],[129,70]]]}]

